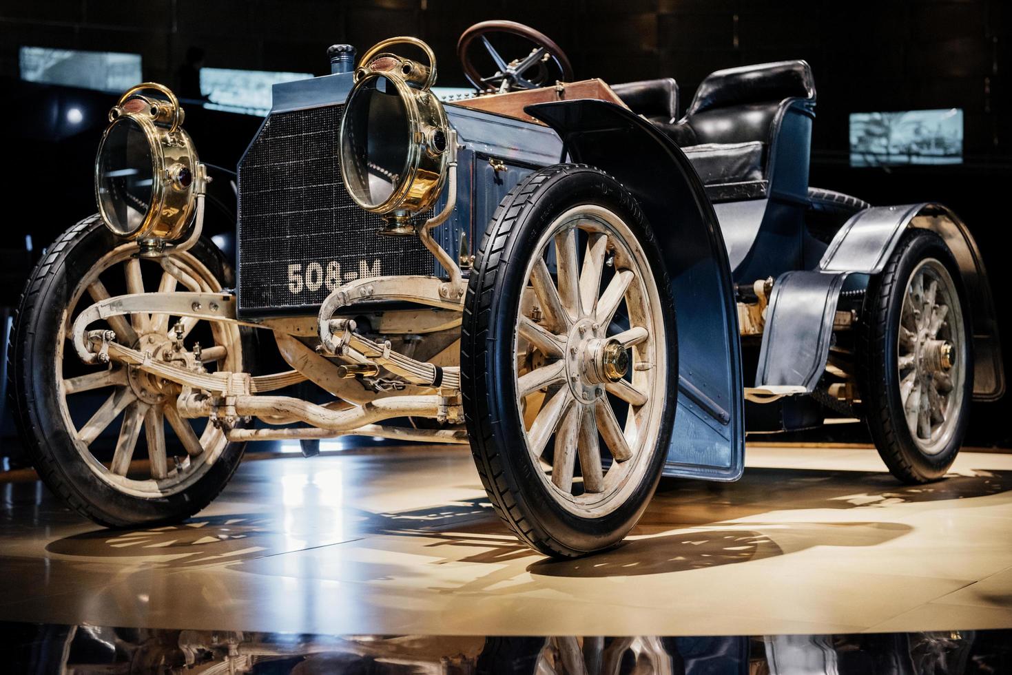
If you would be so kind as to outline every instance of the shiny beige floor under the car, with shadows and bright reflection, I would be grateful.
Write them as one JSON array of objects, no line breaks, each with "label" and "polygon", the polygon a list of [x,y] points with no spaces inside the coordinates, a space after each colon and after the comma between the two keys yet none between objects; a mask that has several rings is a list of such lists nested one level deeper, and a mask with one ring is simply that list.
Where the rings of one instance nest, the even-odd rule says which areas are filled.
[{"label": "shiny beige floor under the car, with shadows and bright reflection", "polygon": [[1012,627],[1012,455],[896,483],[873,451],[750,448],[665,481],[627,543],[553,562],[470,454],[244,463],[205,512],[109,531],[0,486],[0,620],[322,635],[770,635]]}]

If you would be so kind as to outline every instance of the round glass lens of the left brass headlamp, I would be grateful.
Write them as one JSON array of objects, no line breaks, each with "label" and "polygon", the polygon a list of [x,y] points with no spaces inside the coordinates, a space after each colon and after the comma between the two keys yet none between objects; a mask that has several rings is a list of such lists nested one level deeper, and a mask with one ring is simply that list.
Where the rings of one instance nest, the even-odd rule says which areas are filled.
[{"label": "round glass lens of the left brass headlamp", "polygon": [[123,117],[108,131],[98,154],[98,199],[114,232],[129,235],[144,225],[154,189],[151,146],[141,125]]}]

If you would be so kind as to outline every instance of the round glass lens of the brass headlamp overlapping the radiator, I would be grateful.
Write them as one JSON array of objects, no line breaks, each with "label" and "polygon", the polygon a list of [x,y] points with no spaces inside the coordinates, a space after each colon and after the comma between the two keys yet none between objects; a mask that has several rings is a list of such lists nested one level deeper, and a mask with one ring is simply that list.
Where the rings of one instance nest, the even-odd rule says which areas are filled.
[{"label": "round glass lens of the brass headlamp overlapping the radiator", "polygon": [[408,110],[386,77],[359,85],[341,130],[341,164],[356,199],[380,206],[404,178],[411,144]]}]

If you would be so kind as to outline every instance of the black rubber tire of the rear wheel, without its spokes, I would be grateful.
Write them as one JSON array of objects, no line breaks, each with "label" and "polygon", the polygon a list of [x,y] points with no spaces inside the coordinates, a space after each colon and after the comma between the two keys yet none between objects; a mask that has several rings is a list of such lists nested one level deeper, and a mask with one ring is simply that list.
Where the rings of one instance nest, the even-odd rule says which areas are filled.
[{"label": "black rubber tire of the rear wheel, without its spokes", "polygon": [[[962,309],[965,385],[960,417],[949,443],[937,454],[928,455],[914,443],[903,414],[897,370],[897,340],[903,294],[914,269],[925,258],[939,260],[948,270]],[[966,304],[959,270],[942,239],[928,230],[907,232],[890,255],[884,269],[868,283],[862,318],[858,326],[859,387],[865,421],[872,441],[890,473],[907,484],[937,481],[945,476],[962,444],[969,418],[974,391],[973,336],[969,306]]]}]

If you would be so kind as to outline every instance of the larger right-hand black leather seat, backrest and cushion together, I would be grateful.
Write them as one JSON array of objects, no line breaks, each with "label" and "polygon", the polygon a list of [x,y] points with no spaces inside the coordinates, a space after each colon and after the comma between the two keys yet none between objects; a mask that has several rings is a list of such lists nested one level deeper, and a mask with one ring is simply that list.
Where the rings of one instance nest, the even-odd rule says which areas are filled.
[{"label": "larger right-hand black leather seat, backrest and cushion together", "polygon": [[[768,194],[777,155],[783,156],[781,164],[804,162],[807,179],[815,99],[812,68],[805,61],[731,68],[702,81],[684,117],[657,125],[685,152],[711,199],[762,197]],[[800,125],[808,136],[791,139],[803,147],[778,148],[791,112],[809,117],[808,125]],[[793,157],[799,151],[804,159]],[[794,187],[788,191],[796,191]],[[804,195],[804,186],[796,187]]]}]

